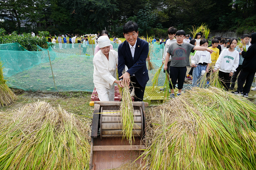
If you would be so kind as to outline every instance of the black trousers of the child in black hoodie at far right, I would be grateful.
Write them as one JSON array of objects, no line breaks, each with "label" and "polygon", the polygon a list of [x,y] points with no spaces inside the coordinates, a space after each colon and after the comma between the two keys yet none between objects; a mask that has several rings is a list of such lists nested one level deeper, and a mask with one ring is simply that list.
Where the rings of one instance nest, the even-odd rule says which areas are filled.
[{"label": "black trousers of the child in black hoodie at far right", "polygon": [[[249,72],[249,71],[240,71],[240,74],[237,79],[237,92],[238,93],[249,93],[250,88],[254,79],[255,72]],[[246,81],[244,87],[243,84]]]}]

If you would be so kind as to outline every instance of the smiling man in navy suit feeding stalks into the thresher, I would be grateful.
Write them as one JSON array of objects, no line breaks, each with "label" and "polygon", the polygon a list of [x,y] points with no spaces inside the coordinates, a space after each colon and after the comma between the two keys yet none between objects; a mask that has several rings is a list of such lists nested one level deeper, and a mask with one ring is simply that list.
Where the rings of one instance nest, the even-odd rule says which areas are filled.
[{"label": "smiling man in navy suit feeding stalks into the thresher", "polygon": [[[138,24],[129,21],[123,27],[125,41],[118,47],[118,75],[124,84],[134,87],[134,101],[142,101],[148,77],[148,42],[138,38]],[[122,74],[125,65],[128,70]],[[121,76],[120,76],[121,75]]]}]

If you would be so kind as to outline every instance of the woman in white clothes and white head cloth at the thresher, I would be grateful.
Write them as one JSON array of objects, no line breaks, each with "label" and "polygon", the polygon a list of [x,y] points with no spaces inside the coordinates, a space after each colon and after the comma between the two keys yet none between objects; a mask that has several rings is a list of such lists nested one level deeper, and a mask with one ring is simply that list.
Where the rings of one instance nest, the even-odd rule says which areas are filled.
[{"label": "woman in white clothes and white head cloth at the thresher", "polygon": [[115,79],[118,53],[110,49],[108,36],[100,36],[98,46],[100,50],[93,58],[93,83],[100,101],[114,101],[115,83],[124,87],[120,80]]}]

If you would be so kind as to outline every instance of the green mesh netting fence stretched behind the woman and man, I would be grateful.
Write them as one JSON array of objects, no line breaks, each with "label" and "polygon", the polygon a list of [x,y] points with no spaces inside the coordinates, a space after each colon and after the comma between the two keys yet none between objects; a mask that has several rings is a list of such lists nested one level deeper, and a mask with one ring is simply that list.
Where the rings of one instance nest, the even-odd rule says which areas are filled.
[{"label": "green mesh netting fence stretched behind the woman and man", "polygon": [[[2,45],[2,44],[1,44]],[[68,44],[71,45],[72,44]],[[67,45],[67,47],[68,47]],[[91,45],[91,44],[90,44]],[[6,45],[7,46],[7,45]],[[4,76],[8,80],[10,87],[19,88],[26,91],[88,91],[92,92],[93,84],[93,52],[92,47],[88,47],[86,53],[80,54],[79,44],[74,44],[74,52],[66,49],[59,49],[59,52],[53,47],[48,50],[38,46],[38,51],[21,51],[18,48],[20,45],[12,43],[8,45],[9,49],[13,50],[0,50],[1,61],[4,66]],[[14,50],[14,47],[17,50]],[[56,49],[58,44],[56,44]],[[65,44],[62,44],[62,48]],[[94,46],[95,48],[95,46]],[[8,49],[8,48],[7,48]],[[113,44],[113,49],[118,50],[118,44]],[[155,45],[154,52],[152,53],[152,60],[155,69],[158,69],[162,64],[162,45]],[[82,51],[82,49],[81,49]],[[67,54],[67,53],[72,54]],[[85,51],[84,51],[85,52]],[[83,55],[82,55],[83,54]],[[52,64],[52,76],[49,56]],[[151,85],[151,80],[156,70],[149,71],[150,81],[147,86]],[[158,85],[163,85],[165,74],[161,71],[159,76]]]}]

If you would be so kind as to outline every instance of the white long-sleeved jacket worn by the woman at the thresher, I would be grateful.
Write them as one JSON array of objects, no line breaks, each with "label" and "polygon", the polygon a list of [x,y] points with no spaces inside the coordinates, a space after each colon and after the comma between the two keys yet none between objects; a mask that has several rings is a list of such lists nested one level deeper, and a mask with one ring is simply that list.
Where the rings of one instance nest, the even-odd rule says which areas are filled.
[{"label": "white long-sleeved jacket worn by the woman at the thresher", "polygon": [[93,57],[93,83],[108,89],[114,87],[116,80],[116,65],[118,64],[118,53],[115,50],[109,51],[109,60],[98,51]]}]

